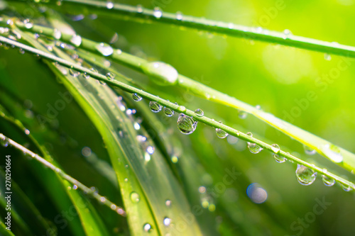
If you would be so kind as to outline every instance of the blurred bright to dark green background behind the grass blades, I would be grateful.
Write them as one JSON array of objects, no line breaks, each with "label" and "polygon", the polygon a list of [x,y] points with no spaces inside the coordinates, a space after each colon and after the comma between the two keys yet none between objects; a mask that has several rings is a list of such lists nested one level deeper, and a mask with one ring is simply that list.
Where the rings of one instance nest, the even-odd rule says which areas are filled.
[{"label": "blurred bright to dark green background behind the grass blades", "polygon": [[[181,11],[185,15],[203,16],[268,30],[289,29],[294,35],[355,45],[352,40],[355,33],[351,30],[355,21],[355,1],[351,0],[119,2],[141,4],[148,9],[160,6],[167,12]],[[277,9],[276,6],[283,7]],[[148,60],[167,62],[180,74],[253,106],[260,105],[264,111],[271,112],[279,118],[285,118],[286,113],[290,114],[292,109],[300,107],[297,101],[304,101],[307,92],[315,91],[317,99],[307,101],[307,108],[298,109],[300,113],[297,117],[293,116],[291,120],[288,118],[286,120],[350,152],[355,152],[354,59],[344,59],[335,55],[329,58],[320,52],[214,35],[160,23],[137,23],[104,16],[98,16],[96,19],[86,17],[82,21],[72,21],[71,18],[67,16],[67,22],[85,38],[109,43],[114,33],[117,33],[119,38],[113,44],[115,47]],[[344,60],[349,66],[337,76],[331,74],[332,69],[337,68],[339,63],[344,63]],[[332,170],[339,175],[346,175],[350,180],[355,179],[354,174],[345,172],[319,154],[314,156],[305,154],[299,142],[261,120],[251,116],[240,119],[233,108],[204,101],[173,86],[152,84],[142,74],[121,65],[116,67],[152,94],[173,102],[177,101],[192,110],[202,108],[204,114],[210,118],[222,120],[241,131],[252,132],[254,136],[268,143],[278,143],[280,147],[301,159],[317,163],[320,167],[327,167],[329,171]],[[327,80],[326,77],[330,79]],[[13,96],[18,98],[16,106],[14,105],[12,109],[14,113],[18,112],[18,118],[25,124],[33,120],[31,115],[26,115],[26,107],[24,108],[28,106],[29,101],[33,106],[29,106],[28,110],[45,113],[48,103],[54,104],[60,99],[58,91],[65,91],[40,60],[35,60],[32,55],[20,55],[14,50],[0,50],[0,84],[1,99],[7,97],[4,95],[7,94],[4,89],[11,91]],[[235,214],[234,217],[240,222],[248,220],[251,225],[256,225],[255,227],[263,223],[265,235],[278,235],[273,231],[274,227],[279,227],[288,235],[354,235],[354,192],[347,193],[339,186],[324,186],[320,175],[314,184],[302,186],[295,179],[295,164],[290,162],[278,164],[266,151],[251,154],[243,140],[236,143],[231,138],[220,140],[212,128],[200,123],[195,133],[189,136],[182,135],[176,127],[177,116],[170,119],[166,119],[160,113],[156,116],[162,120],[168,129],[167,132],[170,132],[169,135],[180,138],[185,145],[180,148],[179,162],[173,165],[181,168],[180,160],[184,159],[185,152],[189,152],[195,162],[200,162],[197,167],[203,169],[202,173],[207,174],[207,177],[201,175],[198,179],[201,186],[212,188],[221,180],[218,178],[224,173],[220,172],[221,169],[214,169],[215,163],[222,167],[235,167],[241,174],[241,181],[237,181],[231,191],[223,193],[228,195],[226,197],[230,199],[229,204],[235,207],[233,209],[240,210],[230,213]],[[14,140],[26,142],[26,138],[4,120],[1,120],[0,130]],[[48,140],[41,141],[47,145],[53,153],[53,158],[60,162],[68,174],[87,186],[104,189],[104,194],[108,198],[119,198],[119,192],[84,162],[81,153],[83,147],[90,147],[100,159],[109,161],[109,157],[102,144],[102,137],[76,103],[67,104],[58,115],[58,124],[53,126],[53,130],[45,132],[48,133]],[[58,133],[60,142],[53,142],[58,140]],[[13,159],[13,179],[18,181],[23,191],[34,199],[39,208],[45,209],[46,205],[43,204],[45,193],[33,190],[38,180],[25,178],[28,174],[27,166],[31,162],[13,150],[0,147],[0,152],[1,154],[12,152],[13,156],[16,156],[16,159]],[[260,184],[268,193],[264,203],[256,204],[247,198],[246,189],[252,183]],[[214,199],[217,216],[219,198],[221,197]],[[316,199],[322,198],[331,205],[324,213],[310,220],[307,227],[303,226],[302,231],[299,227],[296,228],[300,224],[293,223],[298,218],[305,218],[307,213],[313,212],[317,204]],[[246,201],[251,207],[241,207]],[[52,209],[53,206],[49,208]],[[111,222],[117,220],[117,216],[109,210],[102,209],[102,206],[98,208],[102,215],[111,214]],[[55,210],[48,210],[45,216],[52,219],[55,213]],[[218,220],[219,218],[216,218],[216,222]],[[270,226],[269,231],[268,223],[274,225]],[[239,229],[240,226],[236,225],[234,230],[239,232]],[[62,235],[65,233],[62,232]],[[224,235],[221,230],[219,233]],[[233,235],[233,230],[229,234]],[[225,232],[225,235],[228,234]]]}]

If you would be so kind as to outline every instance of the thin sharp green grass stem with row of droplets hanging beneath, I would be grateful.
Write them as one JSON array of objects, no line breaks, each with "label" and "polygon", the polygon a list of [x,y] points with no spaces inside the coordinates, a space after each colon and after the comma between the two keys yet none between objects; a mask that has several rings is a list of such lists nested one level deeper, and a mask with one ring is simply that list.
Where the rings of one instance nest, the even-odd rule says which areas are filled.
[{"label": "thin sharp green grass stem with row of droplets hanging beneath", "polygon": [[172,103],[172,102],[167,101],[165,99],[161,99],[158,96],[154,96],[153,94],[149,94],[148,92],[143,91],[141,89],[136,89],[133,86],[130,86],[128,84],[124,84],[123,82],[119,82],[115,79],[108,79],[104,75],[99,74],[97,72],[93,72],[92,70],[84,68],[78,64],[68,62],[67,60],[63,60],[60,57],[55,57],[53,55],[50,55],[47,52],[43,52],[43,51],[35,49],[33,47],[29,47],[28,45],[18,43],[16,41],[10,40],[9,38],[4,38],[3,36],[0,36],[0,42],[8,43],[9,45],[12,45],[13,47],[19,47],[19,48],[21,48],[27,52],[31,52],[35,55],[40,55],[40,57],[43,57],[43,58],[50,60],[52,62],[61,64],[62,66],[65,66],[65,67],[68,67],[71,69],[75,69],[78,72],[89,74],[90,77],[93,77],[94,79],[98,79],[99,81],[105,82],[111,86],[116,86],[116,87],[118,87],[126,92],[129,92],[131,94],[138,94],[138,95],[142,96],[144,99],[148,99],[149,101],[156,101],[156,102],[160,103],[160,105],[166,106],[166,107],[172,109],[173,111],[176,111],[178,113],[184,113],[185,115],[191,116],[192,118],[194,118],[194,120],[200,121],[201,123],[209,125],[213,128],[220,128],[221,130],[226,131],[226,133],[229,133],[229,135],[239,137],[241,140],[245,140],[247,142],[255,143],[256,145],[259,145],[263,149],[266,149],[266,150],[273,152],[275,154],[278,154],[280,156],[286,157],[287,159],[292,160],[293,162],[296,162],[297,164],[302,164],[305,167],[313,169],[315,172],[318,172],[324,176],[328,176],[329,178],[335,179],[340,184],[344,184],[345,186],[351,186],[351,189],[355,189],[355,184],[353,184],[351,181],[343,179],[342,177],[339,177],[336,174],[332,174],[330,172],[327,172],[327,169],[322,169],[320,167],[316,167],[315,164],[310,164],[309,162],[305,162],[302,159],[299,159],[299,158],[293,156],[289,152],[284,152],[283,150],[275,151],[275,149],[271,145],[268,145],[266,142],[258,140],[255,137],[250,137],[249,135],[246,135],[245,133],[241,133],[239,130],[235,130],[234,128],[231,128],[228,125],[224,125],[222,123],[219,123],[219,122],[215,121],[214,119],[207,118],[205,116],[202,116],[202,117],[197,116],[197,114],[194,111],[191,111],[191,110],[185,108],[185,106],[179,106],[175,103]]}]

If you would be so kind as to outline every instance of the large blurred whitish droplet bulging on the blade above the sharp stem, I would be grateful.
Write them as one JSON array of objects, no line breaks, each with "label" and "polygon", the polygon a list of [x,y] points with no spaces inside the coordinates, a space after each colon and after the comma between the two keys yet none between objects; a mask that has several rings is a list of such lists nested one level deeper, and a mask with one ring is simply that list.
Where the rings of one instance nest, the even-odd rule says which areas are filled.
[{"label": "large blurred whitish droplet bulging on the blade above the sharp stem", "polygon": [[153,82],[160,85],[172,85],[178,82],[178,71],[170,64],[164,62],[146,62],[141,69]]}]

